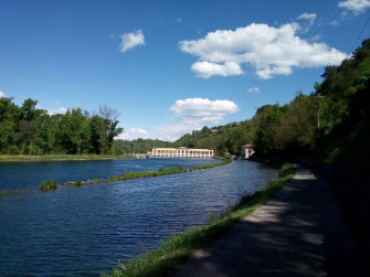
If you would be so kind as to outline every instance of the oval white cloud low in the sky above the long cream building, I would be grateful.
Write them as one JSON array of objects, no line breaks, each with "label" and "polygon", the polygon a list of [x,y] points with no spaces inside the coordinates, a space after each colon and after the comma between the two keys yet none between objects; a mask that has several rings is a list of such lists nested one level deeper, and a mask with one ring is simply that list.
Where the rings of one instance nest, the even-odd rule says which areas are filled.
[{"label": "oval white cloud low in the sky above the long cream building", "polygon": [[239,107],[230,100],[188,98],[177,100],[170,110],[184,124],[218,124],[225,115],[236,113]]}]

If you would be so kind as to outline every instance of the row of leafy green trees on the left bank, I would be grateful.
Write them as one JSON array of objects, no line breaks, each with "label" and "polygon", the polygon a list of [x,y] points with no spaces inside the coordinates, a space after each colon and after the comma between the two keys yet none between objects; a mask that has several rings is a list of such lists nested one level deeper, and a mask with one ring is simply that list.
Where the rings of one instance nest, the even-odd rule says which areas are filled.
[{"label": "row of leafy green trees on the left bank", "polygon": [[114,138],[123,132],[118,111],[106,105],[98,114],[82,108],[49,115],[25,99],[21,106],[13,98],[0,98],[0,153],[113,153]]}]

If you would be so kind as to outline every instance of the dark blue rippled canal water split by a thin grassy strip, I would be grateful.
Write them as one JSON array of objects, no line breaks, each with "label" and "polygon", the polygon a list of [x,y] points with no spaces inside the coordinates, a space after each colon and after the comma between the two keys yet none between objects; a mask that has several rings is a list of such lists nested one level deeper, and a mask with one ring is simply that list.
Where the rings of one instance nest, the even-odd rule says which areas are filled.
[{"label": "dark blue rippled canal water split by a thin grassy strip", "polygon": [[191,168],[209,159],[0,163],[0,276],[98,276],[118,260],[204,224],[277,174],[250,162],[156,178],[41,192],[55,179],[87,180],[129,171]]}]

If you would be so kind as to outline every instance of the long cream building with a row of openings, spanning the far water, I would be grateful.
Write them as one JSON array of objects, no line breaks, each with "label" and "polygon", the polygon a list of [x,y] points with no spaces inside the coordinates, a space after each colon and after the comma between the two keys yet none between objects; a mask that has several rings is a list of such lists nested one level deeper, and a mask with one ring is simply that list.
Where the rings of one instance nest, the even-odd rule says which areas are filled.
[{"label": "long cream building with a row of openings, spanning the far water", "polygon": [[179,148],[154,148],[150,157],[167,157],[167,158],[213,158],[213,150],[210,149],[193,149],[187,147]]}]

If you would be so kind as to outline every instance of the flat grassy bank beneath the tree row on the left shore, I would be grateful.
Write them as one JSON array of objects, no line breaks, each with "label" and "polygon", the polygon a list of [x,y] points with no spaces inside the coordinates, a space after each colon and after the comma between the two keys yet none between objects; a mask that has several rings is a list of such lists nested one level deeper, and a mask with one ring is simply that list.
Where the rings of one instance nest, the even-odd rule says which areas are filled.
[{"label": "flat grassy bank beneath the tree row on the left shore", "polygon": [[136,156],[113,156],[113,155],[1,155],[0,162],[9,161],[82,161],[82,160],[114,160],[114,159],[136,159]]}]

